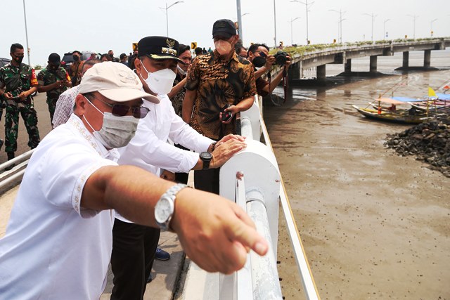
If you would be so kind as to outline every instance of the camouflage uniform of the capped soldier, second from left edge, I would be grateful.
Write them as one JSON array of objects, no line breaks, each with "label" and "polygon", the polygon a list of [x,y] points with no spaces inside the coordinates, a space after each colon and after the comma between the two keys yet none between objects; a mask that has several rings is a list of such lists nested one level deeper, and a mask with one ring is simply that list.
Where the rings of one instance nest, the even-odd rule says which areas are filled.
[{"label": "camouflage uniform of the capped soldier, second from left edge", "polygon": [[[37,74],[37,83],[40,86],[48,86],[49,84],[53,84],[58,80],[70,81],[70,77],[68,72],[63,67],[58,67],[57,70],[51,70],[48,67],[41,70],[39,74]],[[60,89],[52,89],[47,91],[47,105],[49,105],[50,119],[53,119],[53,115],[55,114],[56,101],[60,94],[62,94],[66,89],[66,86],[61,87]]]}]

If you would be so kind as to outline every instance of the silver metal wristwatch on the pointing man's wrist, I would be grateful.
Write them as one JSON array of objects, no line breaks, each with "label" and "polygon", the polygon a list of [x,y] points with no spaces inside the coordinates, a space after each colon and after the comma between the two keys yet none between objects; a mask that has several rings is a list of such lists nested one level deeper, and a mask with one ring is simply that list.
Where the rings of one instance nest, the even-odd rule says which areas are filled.
[{"label": "silver metal wristwatch on the pointing man's wrist", "polygon": [[176,193],[186,188],[188,185],[177,183],[172,185],[166,193],[162,194],[160,200],[155,205],[155,220],[161,230],[172,230],[170,228],[170,221],[174,215]]}]

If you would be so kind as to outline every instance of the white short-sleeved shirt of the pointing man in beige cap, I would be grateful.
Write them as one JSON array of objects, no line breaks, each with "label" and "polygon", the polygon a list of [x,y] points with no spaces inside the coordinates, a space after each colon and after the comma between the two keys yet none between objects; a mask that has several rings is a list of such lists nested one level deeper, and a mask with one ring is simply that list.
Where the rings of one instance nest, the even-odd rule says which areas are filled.
[{"label": "white short-sleeved shirt of the pointing man in beige cap", "polygon": [[99,299],[115,212],[80,200],[89,176],[117,157],[76,115],[39,143],[0,240],[1,299]]}]

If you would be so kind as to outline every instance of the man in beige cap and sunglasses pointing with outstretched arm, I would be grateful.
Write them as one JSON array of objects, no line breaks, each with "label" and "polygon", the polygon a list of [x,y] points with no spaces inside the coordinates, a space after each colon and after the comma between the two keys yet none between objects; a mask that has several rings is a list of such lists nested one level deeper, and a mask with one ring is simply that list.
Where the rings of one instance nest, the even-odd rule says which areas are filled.
[{"label": "man in beige cap and sunglasses pointing with outstretched arm", "polygon": [[186,254],[210,272],[242,268],[248,248],[266,254],[267,242],[236,204],[117,165],[114,148],[127,145],[148,115],[143,99],[159,101],[141,88],[120,63],[98,63],[84,74],[74,114],[39,144],[20,184],[0,239],[2,299],[99,299],[115,211],[173,230]]}]

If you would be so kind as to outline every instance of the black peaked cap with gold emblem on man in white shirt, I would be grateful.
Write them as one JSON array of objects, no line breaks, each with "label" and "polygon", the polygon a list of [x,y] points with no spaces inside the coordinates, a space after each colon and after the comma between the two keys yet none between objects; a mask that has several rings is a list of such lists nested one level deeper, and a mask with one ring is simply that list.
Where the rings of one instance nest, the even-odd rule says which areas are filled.
[{"label": "black peaked cap with gold emblem on man in white shirt", "polygon": [[173,59],[184,63],[179,59],[179,43],[169,37],[144,37],[138,43],[138,55],[148,56],[155,60]]}]

